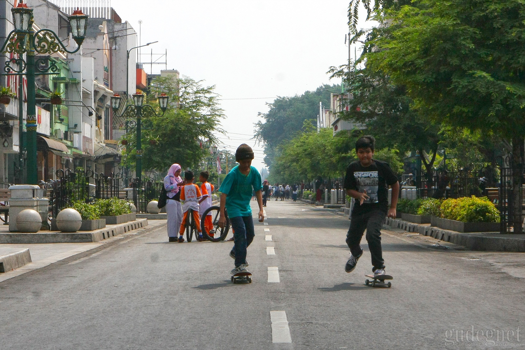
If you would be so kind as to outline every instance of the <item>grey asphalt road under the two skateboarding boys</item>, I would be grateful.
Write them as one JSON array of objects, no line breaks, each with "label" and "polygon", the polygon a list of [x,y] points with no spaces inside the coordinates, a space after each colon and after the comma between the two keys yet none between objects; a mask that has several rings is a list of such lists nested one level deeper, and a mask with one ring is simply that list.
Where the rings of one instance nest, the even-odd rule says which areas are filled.
[{"label": "grey asphalt road under the two skateboarding boys", "polygon": [[[487,330],[503,330],[501,344],[525,346],[525,255],[384,231],[394,280],[372,288],[364,238],[344,272],[344,215],[291,201],[266,213],[248,249],[251,284],[229,281],[232,242],[168,243],[165,227],[0,283],[0,349],[444,349],[467,346],[471,330],[485,344]],[[268,282],[268,267],[280,282]],[[282,311],[274,327],[272,311]]]}]

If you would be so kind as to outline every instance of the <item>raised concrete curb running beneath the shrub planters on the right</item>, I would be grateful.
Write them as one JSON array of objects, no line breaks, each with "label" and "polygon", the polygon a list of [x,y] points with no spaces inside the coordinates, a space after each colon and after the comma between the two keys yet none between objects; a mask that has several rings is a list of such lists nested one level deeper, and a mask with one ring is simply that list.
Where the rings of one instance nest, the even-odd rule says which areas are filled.
[{"label": "raised concrete curb running beneath the shrub planters on the right", "polygon": [[416,224],[392,218],[386,218],[385,224],[407,232],[417,232],[437,240],[463,245],[471,250],[525,252],[525,234],[500,234],[496,232],[460,233],[432,227],[429,224]]}]

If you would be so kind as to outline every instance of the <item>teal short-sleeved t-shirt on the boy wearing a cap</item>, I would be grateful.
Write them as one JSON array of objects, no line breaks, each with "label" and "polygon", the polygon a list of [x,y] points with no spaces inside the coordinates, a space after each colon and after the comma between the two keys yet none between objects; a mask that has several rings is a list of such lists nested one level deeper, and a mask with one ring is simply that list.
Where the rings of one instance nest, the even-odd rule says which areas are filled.
[{"label": "teal short-sleeved t-shirt on the boy wearing a cap", "polygon": [[248,176],[234,167],[220,184],[219,192],[226,194],[226,211],[229,218],[251,217],[250,200],[252,188],[258,191],[262,188],[261,175],[255,167],[250,167]]}]

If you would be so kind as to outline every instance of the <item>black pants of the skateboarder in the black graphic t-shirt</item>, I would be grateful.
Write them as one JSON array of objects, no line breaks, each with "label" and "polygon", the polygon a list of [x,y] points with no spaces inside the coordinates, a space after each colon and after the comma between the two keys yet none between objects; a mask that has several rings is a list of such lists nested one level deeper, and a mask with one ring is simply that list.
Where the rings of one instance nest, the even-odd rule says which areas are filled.
[{"label": "black pants of the skateboarder in the black graphic t-shirt", "polygon": [[348,244],[350,252],[353,256],[358,256],[363,252],[360,243],[364,230],[366,230],[366,241],[368,242],[370,255],[372,255],[372,265],[374,266],[372,271],[385,268],[383,250],[381,249],[381,228],[385,217],[386,212],[380,209],[374,209],[360,215],[352,213],[350,228],[346,234],[346,244]]}]

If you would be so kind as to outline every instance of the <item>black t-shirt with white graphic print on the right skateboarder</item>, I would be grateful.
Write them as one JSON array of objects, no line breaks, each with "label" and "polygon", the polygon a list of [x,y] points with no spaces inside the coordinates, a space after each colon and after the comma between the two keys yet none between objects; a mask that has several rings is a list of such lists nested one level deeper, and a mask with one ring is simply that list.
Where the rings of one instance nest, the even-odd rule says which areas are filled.
[{"label": "black t-shirt with white graphic print on the right skateboarder", "polygon": [[397,182],[397,176],[388,163],[372,160],[372,164],[363,167],[359,161],[351,163],[346,168],[344,188],[364,192],[369,196],[363,204],[355,201],[353,214],[361,214],[373,209],[388,210],[388,189]]}]

